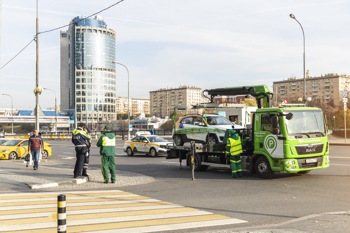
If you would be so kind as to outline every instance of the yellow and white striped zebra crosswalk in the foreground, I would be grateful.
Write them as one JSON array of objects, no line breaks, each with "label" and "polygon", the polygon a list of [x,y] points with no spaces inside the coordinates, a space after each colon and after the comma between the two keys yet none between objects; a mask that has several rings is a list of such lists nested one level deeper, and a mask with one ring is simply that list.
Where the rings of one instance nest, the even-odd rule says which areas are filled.
[{"label": "yellow and white striped zebra crosswalk in the foreground", "polygon": [[66,195],[67,233],[141,233],[245,223],[120,190],[0,194],[0,232],[57,232],[57,195]]}]

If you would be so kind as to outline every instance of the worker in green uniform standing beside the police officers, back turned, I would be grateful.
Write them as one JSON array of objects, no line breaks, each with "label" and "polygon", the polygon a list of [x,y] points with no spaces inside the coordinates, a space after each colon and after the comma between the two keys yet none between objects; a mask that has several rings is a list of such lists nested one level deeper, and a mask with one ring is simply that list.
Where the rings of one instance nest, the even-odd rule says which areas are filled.
[{"label": "worker in green uniform standing beside the police officers, back turned", "polygon": [[96,146],[100,147],[103,183],[108,184],[109,176],[107,166],[111,173],[111,183],[116,183],[116,162],[114,153],[116,153],[116,134],[111,133],[111,127],[106,125],[103,129],[105,132],[100,135]]}]

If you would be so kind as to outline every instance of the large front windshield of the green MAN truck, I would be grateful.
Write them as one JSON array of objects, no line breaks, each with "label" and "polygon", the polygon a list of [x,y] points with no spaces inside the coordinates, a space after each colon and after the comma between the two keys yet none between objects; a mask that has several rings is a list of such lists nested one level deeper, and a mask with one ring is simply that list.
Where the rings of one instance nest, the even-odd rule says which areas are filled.
[{"label": "large front windshield of the green MAN truck", "polygon": [[[325,134],[322,111],[291,111],[294,117],[285,123],[288,134]],[[288,114],[289,112],[284,112]]]}]

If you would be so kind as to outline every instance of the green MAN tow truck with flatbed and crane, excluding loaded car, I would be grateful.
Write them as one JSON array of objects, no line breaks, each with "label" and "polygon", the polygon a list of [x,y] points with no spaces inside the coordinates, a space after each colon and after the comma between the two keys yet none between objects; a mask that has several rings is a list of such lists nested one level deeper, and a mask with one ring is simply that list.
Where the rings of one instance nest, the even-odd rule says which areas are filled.
[{"label": "green MAN tow truck with flatbed and crane, excluding loaded car", "polygon": [[[295,105],[272,106],[273,93],[267,86],[228,87],[204,90],[210,99],[218,95],[252,95],[258,109],[252,117],[252,128],[235,129],[241,138],[242,168],[271,178],[275,172],[297,172],[307,174],[311,170],[329,167],[329,143],[327,124],[320,108]],[[205,116],[203,116],[205,117]],[[195,171],[209,166],[230,168],[225,159],[226,130],[223,143],[191,146],[164,146],[169,149],[167,159],[178,158],[186,165],[194,165]],[[193,162],[191,162],[193,155]]]}]

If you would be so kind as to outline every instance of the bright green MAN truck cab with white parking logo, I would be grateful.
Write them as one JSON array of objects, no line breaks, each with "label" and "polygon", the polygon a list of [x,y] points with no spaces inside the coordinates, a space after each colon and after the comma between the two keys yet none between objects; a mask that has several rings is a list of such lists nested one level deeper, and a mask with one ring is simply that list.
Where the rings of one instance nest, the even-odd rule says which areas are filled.
[{"label": "bright green MAN truck cab with white parking logo", "polygon": [[329,167],[327,129],[320,108],[257,109],[251,137],[251,144],[245,143],[250,151],[246,166],[262,178],[274,172],[306,174]]}]

